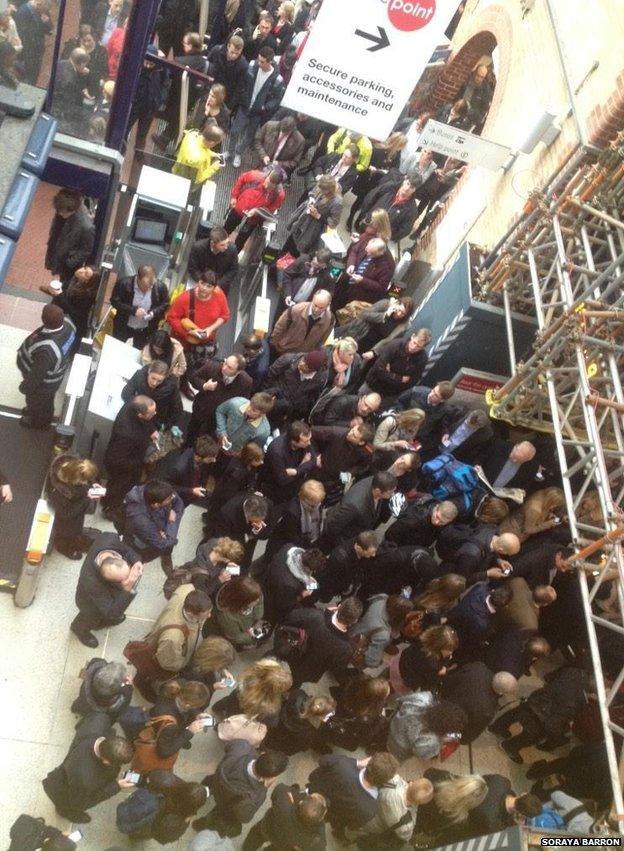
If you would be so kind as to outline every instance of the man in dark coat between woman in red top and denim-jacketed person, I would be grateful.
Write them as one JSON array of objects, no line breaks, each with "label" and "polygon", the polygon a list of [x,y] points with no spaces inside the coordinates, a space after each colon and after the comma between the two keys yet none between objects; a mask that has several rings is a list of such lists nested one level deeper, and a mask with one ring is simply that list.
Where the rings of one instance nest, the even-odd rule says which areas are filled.
[{"label": "man in dark coat between woman in red top and denim-jacketed person", "polygon": [[243,355],[228,355],[225,360],[206,360],[190,376],[191,386],[198,391],[193,399],[191,421],[186,432],[186,445],[192,446],[196,437],[214,432],[216,410],[222,402],[251,396],[252,380],[245,372]]}]

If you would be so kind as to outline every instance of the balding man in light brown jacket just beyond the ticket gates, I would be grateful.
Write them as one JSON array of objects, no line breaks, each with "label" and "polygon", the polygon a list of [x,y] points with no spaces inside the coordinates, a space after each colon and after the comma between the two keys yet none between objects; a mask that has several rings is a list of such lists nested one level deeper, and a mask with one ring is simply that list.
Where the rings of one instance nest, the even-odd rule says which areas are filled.
[{"label": "balding man in light brown jacket just beyond the ticket gates", "polygon": [[311,301],[302,301],[285,310],[275,323],[270,337],[272,360],[287,352],[311,352],[319,349],[334,327],[331,294],[318,290]]}]

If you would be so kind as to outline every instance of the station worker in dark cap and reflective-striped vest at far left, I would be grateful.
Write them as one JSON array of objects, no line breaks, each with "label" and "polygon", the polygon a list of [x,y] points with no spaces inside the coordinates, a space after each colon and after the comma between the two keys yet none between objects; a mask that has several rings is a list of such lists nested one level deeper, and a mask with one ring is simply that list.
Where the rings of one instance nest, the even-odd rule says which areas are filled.
[{"label": "station worker in dark cap and reflective-striped vest at far left", "polygon": [[76,327],[56,304],[41,311],[41,325],[17,351],[17,368],[22,373],[20,393],[26,397],[20,425],[46,429],[54,416],[54,396],[70,363]]}]

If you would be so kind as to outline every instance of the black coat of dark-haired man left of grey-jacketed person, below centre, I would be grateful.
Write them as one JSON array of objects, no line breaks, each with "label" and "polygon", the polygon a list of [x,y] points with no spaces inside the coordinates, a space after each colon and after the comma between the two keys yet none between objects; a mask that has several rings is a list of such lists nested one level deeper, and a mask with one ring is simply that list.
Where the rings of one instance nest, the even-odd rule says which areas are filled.
[{"label": "black coat of dark-haired man left of grey-jacketed person, below centre", "polygon": [[296,608],[285,623],[304,629],[308,636],[305,651],[289,659],[295,684],[317,683],[326,671],[337,680],[345,676],[351,661],[351,645],[346,632],[332,623],[332,613],[314,608]]}]

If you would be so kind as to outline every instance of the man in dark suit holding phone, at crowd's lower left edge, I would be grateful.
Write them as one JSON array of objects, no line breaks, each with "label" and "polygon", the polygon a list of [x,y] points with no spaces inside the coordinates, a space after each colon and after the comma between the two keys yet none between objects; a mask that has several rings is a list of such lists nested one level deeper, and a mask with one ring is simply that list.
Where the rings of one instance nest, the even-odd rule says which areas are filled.
[{"label": "man in dark suit holding phone, at crowd's lower left edge", "polygon": [[130,762],[130,742],[113,733],[104,712],[92,712],[76,729],[69,752],[61,765],[43,780],[46,795],[63,818],[76,824],[91,821],[85,812],[134,783],[117,779],[122,765]]}]

